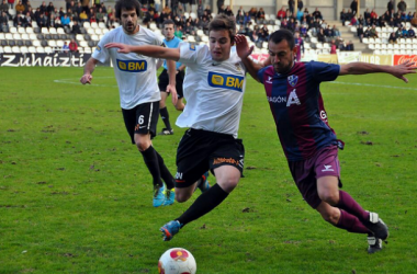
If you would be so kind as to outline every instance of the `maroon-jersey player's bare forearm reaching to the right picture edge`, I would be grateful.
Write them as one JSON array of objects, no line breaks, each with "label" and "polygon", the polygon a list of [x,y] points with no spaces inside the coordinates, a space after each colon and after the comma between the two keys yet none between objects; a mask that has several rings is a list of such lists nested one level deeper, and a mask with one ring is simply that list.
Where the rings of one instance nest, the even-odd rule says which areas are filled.
[{"label": "maroon-jersey player's bare forearm reaching to the right picture edge", "polygon": [[408,79],[405,78],[405,75],[409,73],[416,73],[417,67],[415,66],[415,62],[406,61],[401,65],[396,66],[381,66],[381,65],[373,65],[368,62],[350,62],[347,65],[340,66],[340,73],[339,76],[347,76],[347,75],[368,75],[368,73],[388,73],[392,75],[404,82],[408,82]]}]

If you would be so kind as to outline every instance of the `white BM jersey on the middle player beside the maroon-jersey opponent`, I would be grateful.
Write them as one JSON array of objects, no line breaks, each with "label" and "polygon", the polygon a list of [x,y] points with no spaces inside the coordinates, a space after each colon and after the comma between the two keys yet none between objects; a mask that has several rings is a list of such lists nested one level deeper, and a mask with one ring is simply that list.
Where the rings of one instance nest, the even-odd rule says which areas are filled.
[{"label": "white BM jersey on the middle player beside the maroon-jersey opponent", "polygon": [[227,60],[216,62],[207,46],[182,43],[179,61],[187,66],[187,105],[177,125],[237,138],[246,87],[246,68],[237,54],[230,53]]}]

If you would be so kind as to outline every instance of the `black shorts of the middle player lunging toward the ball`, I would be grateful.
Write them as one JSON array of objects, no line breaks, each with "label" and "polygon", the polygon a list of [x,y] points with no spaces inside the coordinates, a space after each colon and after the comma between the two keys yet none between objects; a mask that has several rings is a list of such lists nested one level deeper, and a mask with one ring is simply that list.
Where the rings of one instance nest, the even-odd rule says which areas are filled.
[{"label": "black shorts of the middle player lunging toward the ball", "polygon": [[204,172],[233,165],[244,172],[245,148],[232,135],[190,128],[177,150],[176,187],[188,187]]}]

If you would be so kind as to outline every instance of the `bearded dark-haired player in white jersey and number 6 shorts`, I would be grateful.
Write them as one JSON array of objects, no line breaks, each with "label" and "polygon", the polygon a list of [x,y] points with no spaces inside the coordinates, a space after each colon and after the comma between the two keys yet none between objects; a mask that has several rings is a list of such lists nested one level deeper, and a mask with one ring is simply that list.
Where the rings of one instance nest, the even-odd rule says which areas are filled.
[{"label": "bearded dark-haired player in white jersey and number 6 shorts", "polygon": [[[139,11],[140,4],[137,0],[120,0],[116,2],[115,14],[121,21],[121,26],[106,33],[99,42],[97,49],[86,64],[84,73],[80,82],[82,84],[91,83],[91,73],[95,65],[99,61],[105,62],[111,58],[119,84],[124,123],[132,144],[137,146],[153,176],[153,205],[158,207],[173,203],[174,179],[151,142],[151,138],[156,135],[160,100],[156,76],[156,60],[147,56],[117,53],[115,49],[104,47],[110,42],[121,42],[129,45],[165,46],[154,32],[138,25]],[[174,61],[169,61],[168,68],[170,71],[170,84],[167,88],[167,92],[170,91],[172,93],[172,103],[176,104]]]}]

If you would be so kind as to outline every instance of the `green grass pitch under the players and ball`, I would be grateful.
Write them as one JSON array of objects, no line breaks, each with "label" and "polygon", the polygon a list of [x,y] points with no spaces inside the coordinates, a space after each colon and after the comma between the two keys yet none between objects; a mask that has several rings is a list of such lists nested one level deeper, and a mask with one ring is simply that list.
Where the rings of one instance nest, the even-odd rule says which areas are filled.
[{"label": "green grass pitch under the players and ball", "polygon": [[[343,190],[390,226],[388,244],[326,224],[291,179],[263,88],[252,79],[239,137],[245,178],[170,242],[158,231],[192,203],[151,207],[151,179],[129,144],[111,68],[0,68],[0,273],[157,273],[169,248],[200,274],[417,273],[417,76],[340,77],[322,84],[345,140]],[[178,112],[169,105],[171,119]],[[158,129],[162,123],[158,124]],[[154,146],[174,172],[184,132]],[[211,182],[214,178],[211,176]],[[198,196],[195,193],[194,196]]]}]

